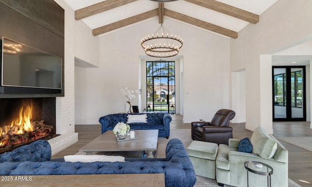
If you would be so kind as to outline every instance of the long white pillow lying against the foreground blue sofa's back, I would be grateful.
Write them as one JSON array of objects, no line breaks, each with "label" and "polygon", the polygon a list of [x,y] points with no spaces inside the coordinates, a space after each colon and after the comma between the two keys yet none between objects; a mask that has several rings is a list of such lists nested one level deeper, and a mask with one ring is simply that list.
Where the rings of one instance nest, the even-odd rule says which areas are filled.
[{"label": "long white pillow lying against the foreground blue sofa's back", "polygon": [[107,155],[67,155],[64,156],[65,162],[125,162],[123,156]]}]

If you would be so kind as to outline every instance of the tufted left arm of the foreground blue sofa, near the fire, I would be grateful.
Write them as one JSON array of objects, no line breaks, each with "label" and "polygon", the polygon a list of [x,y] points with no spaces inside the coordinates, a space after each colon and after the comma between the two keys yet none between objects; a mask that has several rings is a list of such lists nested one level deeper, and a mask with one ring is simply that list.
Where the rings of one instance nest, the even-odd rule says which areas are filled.
[{"label": "tufted left arm of the foreground blue sofa, near the fire", "polygon": [[51,146],[46,140],[37,140],[23,145],[12,152],[0,154],[1,162],[33,161],[43,162],[51,159]]}]

